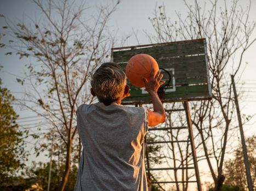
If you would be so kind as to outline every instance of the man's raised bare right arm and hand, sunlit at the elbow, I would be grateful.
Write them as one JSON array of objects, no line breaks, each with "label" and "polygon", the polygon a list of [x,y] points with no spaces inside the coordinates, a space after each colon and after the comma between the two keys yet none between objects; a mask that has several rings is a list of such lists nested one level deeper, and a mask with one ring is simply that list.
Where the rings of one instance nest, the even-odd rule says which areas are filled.
[{"label": "man's raised bare right arm and hand, sunlit at the elbow", "polygon": [[150,80],[147,81],[143,78],[145,83],[146,91],[149,92],[149,95],[153,104],[153,111],[147,109],[149,112],[149,126],[157,126],[160,123],[163,123],[166,120],[166,112],[163,108],[163,104],[157,95],[157,89],[165,82],[161,81],[163,74],[160,73],[160,70],[157,72],[154,77],[155,70],[151,71]]}]

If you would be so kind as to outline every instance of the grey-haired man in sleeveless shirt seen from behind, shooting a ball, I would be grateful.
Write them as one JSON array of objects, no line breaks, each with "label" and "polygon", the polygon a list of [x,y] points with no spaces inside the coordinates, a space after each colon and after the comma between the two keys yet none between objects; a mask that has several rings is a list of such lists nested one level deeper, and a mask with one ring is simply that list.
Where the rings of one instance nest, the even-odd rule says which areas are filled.
[{"label": "grey-haired man in sleeveless shirt seen from behind, shooting a ball", "polygon": [[165,121],[157,96],[164,83],[160,71],[147,81],[153,111],[121,105],[129,96],[126,74],[115,63],[102,64],[92,75],[91,93],[99,100],[77,111],[77,128],[83,145],[75,190],[147,190],[144,137],[149,126]]}]

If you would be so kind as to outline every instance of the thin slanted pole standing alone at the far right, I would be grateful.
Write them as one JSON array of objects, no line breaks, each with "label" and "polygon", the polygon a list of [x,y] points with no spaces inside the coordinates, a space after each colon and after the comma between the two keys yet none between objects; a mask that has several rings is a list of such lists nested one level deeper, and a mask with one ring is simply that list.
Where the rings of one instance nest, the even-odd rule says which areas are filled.
[{"label": "thin slanted pole standing alone at the far right", "polygon": [[239,123],[240,134],[241,134],[241,142],[242,142],[242,148],[243,148],[243,160],[244,160],[244,164],[246,166],[247,184],[248,184],[249,191],[253,191],[251,170],[250,170],[249,160],[248,160],[248,156],[247,156],[246,141],[244,140],[244,135],[243,135],[243,126],[242,126],[241,114],[240,114],[240,109],[239,109],[238,99],[237,99],[237,94],[236,94],[234,75],[231,75],[231,79],[232,79],[232,86],[233,86],[234,97],[235,97],[237,118],[238,118],[238,123]]}]

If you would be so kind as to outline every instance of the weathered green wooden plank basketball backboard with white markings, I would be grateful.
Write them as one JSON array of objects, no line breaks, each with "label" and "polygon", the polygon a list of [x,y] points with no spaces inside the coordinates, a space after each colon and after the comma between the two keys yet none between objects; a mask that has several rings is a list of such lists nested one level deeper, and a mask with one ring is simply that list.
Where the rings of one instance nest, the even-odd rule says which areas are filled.
[{"label": "weathered green wooden plank basketball backboard with white markings", "polygon": [[[128,60],[138,53],[152,56],[162,69],[163,79],[166,80],[162,88],[162,102],[211,99],[205,39],[115,47],[112,49],[112,61],[125,70]],[[128,80],[127,83],[131,96],[122,101],[123,105],[150,103],[144,88],[137,88]]]}]

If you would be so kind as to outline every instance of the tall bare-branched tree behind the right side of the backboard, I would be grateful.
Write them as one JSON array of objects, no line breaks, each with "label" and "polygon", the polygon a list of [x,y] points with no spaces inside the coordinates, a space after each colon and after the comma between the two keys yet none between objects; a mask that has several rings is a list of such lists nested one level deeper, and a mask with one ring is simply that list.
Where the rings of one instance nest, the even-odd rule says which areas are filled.
[{"label": "tall bare-branched tree behind the right side of the backboard", "polygon": [[[219,6],[217,0],[207,1],[210,9],[195,1],[190,5],[184,0],[187,15],[177,13],[178,21],[168,18],[164,6],[155,10],[151,20],[155,35],[147,34],[151,42],[163,43],[186,39],[206,38],[209,72],[213,99],[191,103],[192,123],[200,135],[200,144],[207,160],[215,184],[219,190],[224,180],[223,166],[230,129],[236,129],[234,101],[232,98],[231,73],[238,75],[242,66],[244,52],[256,41],[252,37],[255,22],[248,21],[251,8],[249,1],[246,10],[232,1],[228,7]],[[234,55],[238,63],[232,64]],[[217,169],[215,171],[214,169]]]}]

